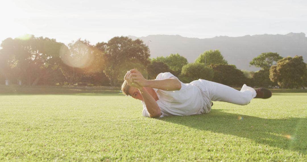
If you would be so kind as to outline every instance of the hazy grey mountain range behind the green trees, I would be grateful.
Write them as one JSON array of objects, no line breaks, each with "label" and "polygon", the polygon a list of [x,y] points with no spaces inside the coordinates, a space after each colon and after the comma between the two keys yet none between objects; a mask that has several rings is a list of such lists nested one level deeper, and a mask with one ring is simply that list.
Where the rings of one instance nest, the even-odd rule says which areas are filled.
[{"label": "hazy grey mountain range behind the green trees", "polygon": [[141,39],[149,44],[151,58],[168,56],[171,53],[186,57],[188,62],[194,60],[206,50],[220,50],[228,64],[239,69],[257,71],[259,68],[249,66],[249,62],[262,52],[277,52],[279,55],[303,56],[307,60],[307,37],[305,33],[289,33],[286,35],[246,35],[243,37],[220,36],[214,38],[187,38],[179,35],[149,35],[147,37],[128,36]]}]

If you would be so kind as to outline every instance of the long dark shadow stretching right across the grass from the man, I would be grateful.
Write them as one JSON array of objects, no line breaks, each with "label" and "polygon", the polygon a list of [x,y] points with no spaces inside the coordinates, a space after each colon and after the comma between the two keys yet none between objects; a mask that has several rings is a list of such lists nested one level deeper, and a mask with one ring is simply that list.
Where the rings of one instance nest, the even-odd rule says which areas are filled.
[{"label": "long dark shadow stretching right across the grass from the man", "polygon": [[264,119],[224,111],[213,109],[209,114],[169,116],[159,120],[307,154],[307,118]]}]

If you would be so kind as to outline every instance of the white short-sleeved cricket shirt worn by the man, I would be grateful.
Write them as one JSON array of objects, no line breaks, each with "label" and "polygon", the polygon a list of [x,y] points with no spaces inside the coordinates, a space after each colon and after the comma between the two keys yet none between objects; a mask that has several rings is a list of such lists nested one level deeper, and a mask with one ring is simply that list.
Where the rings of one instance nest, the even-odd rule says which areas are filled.
[{"label": "white short-sleeved cricket shirt worn by the man", "polygon": [[[155,80],[168,78],[177,77],[169,72],[166,72],[160,73]],[[156,102],[161,109],[160,117],[209,113],[211,110],[211,101],[209,99],[208,91],[202,83],[204,81],[205,80],[200,79],[186,84],[181,82],[181,89],[179,91],[164,91],[153,88],[159,98]],[[142,115],[145,117],[150,117],[146,109],[145,102],[142,101],[142,103]]]}]

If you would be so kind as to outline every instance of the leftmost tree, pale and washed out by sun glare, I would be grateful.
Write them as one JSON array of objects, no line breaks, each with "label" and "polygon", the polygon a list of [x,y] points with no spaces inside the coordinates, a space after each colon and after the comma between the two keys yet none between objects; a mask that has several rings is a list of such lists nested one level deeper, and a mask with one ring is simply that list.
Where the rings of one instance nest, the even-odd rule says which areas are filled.
[{"label": "leftmost tree, pale and washed out by sun glare", "polygon": [[11,71],[15,75],[13,78],[17,80],[36,85],[42,78],[53,75],[54,68],[60,61],[59,51],[63,45],[55,39],[33,35],[26,40],[8,38],[1,44],[1,53],[6,57],[6,68],[10,67],[6,71]]}]

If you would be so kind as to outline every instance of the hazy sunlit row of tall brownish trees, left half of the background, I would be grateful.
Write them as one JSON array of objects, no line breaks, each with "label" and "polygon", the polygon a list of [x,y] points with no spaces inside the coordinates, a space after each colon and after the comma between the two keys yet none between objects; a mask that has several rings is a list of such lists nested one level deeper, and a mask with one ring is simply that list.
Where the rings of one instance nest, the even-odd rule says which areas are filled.
[{"label": "hazy sunlit row of tall brownish trees, left half of the background", "polygon": [[149,56],[141,40],[128,37],[95,45],[80,39],[65,45],[33,35],[28,39],[7,38],[0,49],[0,83],[118,86],[127,69],[146,69]]}]

